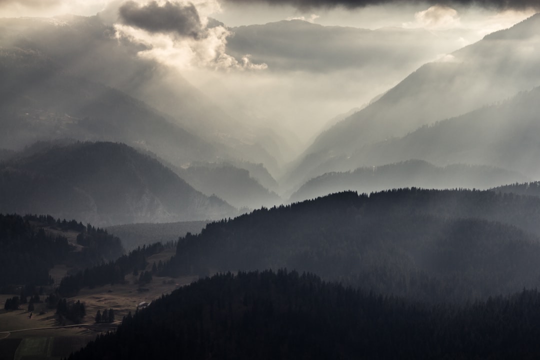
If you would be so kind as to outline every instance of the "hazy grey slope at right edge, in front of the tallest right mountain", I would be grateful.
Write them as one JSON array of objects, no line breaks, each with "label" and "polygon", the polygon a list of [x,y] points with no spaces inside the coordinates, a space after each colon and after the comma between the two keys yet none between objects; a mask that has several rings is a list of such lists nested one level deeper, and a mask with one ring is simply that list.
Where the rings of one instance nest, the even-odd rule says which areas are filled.
[{"label": "hazy grey slope at right edge, in front of the tallest right mountain", "polygon": [[[540,87],[536,87],[498,104],[422,126],[404,137],[364,146],[347,159],[335,159],[334,164],[343,168],[422,159],[438,166],[456,162],[495,166],[537,179],[539,104]],[[523,182],[511,182],[516,181]]]}]

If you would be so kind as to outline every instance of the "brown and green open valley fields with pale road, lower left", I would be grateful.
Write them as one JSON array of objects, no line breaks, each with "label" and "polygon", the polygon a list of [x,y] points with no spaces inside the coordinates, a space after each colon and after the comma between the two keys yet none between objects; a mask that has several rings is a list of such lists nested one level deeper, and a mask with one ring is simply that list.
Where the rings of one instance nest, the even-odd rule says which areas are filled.
[{"label": "brown and green open valley fields with pale road, lower left", "polygon": [[[156,254],[147,259],[149,265],[146,270],[152,268],[152,264],[159,260],[170,259],[170,252]],[[58,275],[66,269],[57,268]],[[0,310],[0,360],[22,359],[60,359],[69,356],[71,352],[84,347],[88,342],[96,338],[101,332],[114,330],[123,316],[130,311],[134,313],[140,302],[151,302],[162,294],[197,280],[197,276],[181,277],[154,277],[152,282],[139,286],[138,276],[126,275],[124,284],[106,285],[93,289],[82,289],[80,293],[68,302],[79,300],[86,307],[84,324],[72,324],[69,321],[59,323],[56,319],[56,309],[47,309],[44,303],[36,303],[32,318],[26,311],[26,304],[21,305],[19,310]],[[18,294],[0,294],[0,304]],[[98,310],[114,310],[116,324],[94,324]],[[66,325],[66,327],[62,327]]]}]

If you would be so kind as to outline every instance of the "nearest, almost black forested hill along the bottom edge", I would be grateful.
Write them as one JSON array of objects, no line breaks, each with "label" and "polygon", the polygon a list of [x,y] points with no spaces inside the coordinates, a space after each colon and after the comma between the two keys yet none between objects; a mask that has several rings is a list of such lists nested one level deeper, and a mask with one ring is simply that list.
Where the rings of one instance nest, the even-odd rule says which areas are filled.
[{"label": "nearest, almost black forested hill along the bottom edge", "polygon": [[540,356],[540,295],[431,307],[311,274],[215,275],[128,315],[80,359],[509,359]]}]

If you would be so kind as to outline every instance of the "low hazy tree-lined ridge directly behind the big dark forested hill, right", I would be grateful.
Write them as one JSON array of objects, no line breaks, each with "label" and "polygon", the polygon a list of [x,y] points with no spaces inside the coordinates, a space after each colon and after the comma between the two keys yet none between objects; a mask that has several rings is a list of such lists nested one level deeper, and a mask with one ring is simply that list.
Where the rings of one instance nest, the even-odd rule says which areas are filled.
[{"label": "low hazy tree-lined ridge directly behind the big dark forested hill, right", "polygon": [[318,176],[302,185],[289,200],[302,201],[347,190],[369,194],[399,187],[489,189],[525,180],[524,175],[501,168],[463,164],[437,167],[422,160],[408,160]]}]

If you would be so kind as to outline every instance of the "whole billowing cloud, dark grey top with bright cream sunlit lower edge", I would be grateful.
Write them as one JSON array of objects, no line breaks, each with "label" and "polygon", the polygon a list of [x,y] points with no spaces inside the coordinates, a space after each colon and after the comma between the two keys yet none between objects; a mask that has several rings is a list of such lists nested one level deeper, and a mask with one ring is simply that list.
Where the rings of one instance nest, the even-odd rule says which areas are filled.
[{"label": "whole billowing cloud, dark grey top with bright cream sunlit lower edge", "polygon": [[139,56],[177,69],[266,69],[264,63],[252,63],[249,55],[228,55],[231,31],[215,19],[200,15],[199,9],[203,13],[215,11],[215,4],[195,4],[152,1],[139,5],[128,1],[118,9],[120,23],[114,26],[117,36],[145,45]]}]

